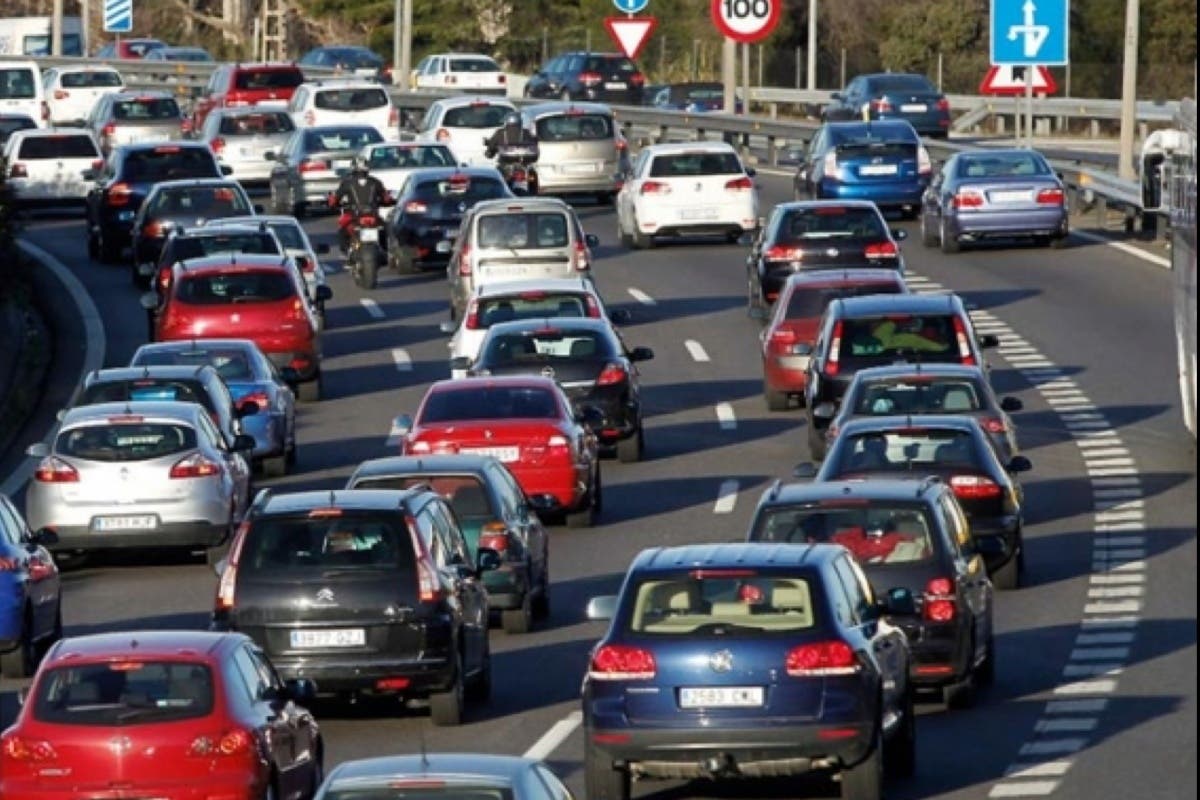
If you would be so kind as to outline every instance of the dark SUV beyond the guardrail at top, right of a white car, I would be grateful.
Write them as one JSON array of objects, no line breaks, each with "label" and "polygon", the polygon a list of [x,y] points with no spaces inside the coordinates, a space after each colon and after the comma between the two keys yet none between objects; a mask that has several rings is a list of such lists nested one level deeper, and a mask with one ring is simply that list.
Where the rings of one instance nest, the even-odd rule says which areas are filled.
[{"label": "dark SUV beyond the guardrail at top, right of a white car", "polygon": [[538,67],[526,97],[641,106],[646,76],[620,53],[562,53]]}]

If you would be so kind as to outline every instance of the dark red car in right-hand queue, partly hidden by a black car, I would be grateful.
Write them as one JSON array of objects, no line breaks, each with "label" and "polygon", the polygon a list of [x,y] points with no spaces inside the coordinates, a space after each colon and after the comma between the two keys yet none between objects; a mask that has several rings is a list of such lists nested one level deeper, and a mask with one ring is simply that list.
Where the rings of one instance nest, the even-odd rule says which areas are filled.
[{"label": "dark red car in right-hand queue, partly hidden by a black car", "polygon": [[904,277],[892,269],[805,270],[788,276],[761,335],[767,409],[786,411],[792,397],[803,402],[804,371],[830,300],[907,291]]}]

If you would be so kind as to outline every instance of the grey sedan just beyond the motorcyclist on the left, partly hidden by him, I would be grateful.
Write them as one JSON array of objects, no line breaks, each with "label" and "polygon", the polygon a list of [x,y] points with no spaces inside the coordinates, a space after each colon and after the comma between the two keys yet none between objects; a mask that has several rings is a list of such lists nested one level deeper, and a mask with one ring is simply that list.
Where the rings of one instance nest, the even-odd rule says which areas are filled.
[{"label": "grey sedan just beyond the motorcyclist on the left, partly hidden by him", "polygon": [[383,142],[371,125],[330,125],[294,131],[280,151],[264,158],[271,166],[271,205],[275,213],[304,216],[310,203],[325,205],[349,172],[350,161],[368,144]]}]

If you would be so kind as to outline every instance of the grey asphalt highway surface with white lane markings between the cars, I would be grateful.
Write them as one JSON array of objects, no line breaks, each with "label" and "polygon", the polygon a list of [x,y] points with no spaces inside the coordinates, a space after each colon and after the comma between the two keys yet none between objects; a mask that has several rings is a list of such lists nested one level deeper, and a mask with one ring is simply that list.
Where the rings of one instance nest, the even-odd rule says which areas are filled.
[{"label": "grey asphalt highway surface with white lane markings between the cars", "polygon": [[[790,197],[760,173],[763,209]],[[527,636],[492,632],[494,692],[460,728],[434,728],[394,704],[320,704],[326,766],[347,758],[432,750],[533,752],[582,796],[578,688],[601,628],[589,596],[617,589],[649,545],[742,537],[775,477],[808,457],[802,414],[766,411],[758,324],[745,314],[745,246],[617,243],[610,209],[580,204],[601,239],[596,283],[629,308],[643,365],[647,458],[604,463],[605,511],[590,530],[552,530],[552,614]],[[332,242],[329,218],[307,223]],[[920,708],[918,770],[889,796],[1196,796],[1196,480],[1177,408],[1166,270],[1073,237],[1063,251],[989,247],[947,257],[916,223],[904,243],[913,285],[949,288],[1002,337],[990,351],[1034,470],[1026,477],[1026,585],[998,599],[997,680],[976,708]],[[26,240],[64,263],[101,309],[104,361],[126,362],[144,319],[125,267],[90,263],[82,221],[40,215]],[[372,293],[331,276],[325,335],[328,398],[302,407],[299,473],[283,489],[341,486],[361,459],[395,452],[390,420],[446,377],[442,273],[385,273]],[[71,339],[68,332],[65,339]],[[74,341],[60,341],[60,347]],[[78,362],[71,349],[68,361]],[[60,384],[74,379],[70,371]],[[60,390],[61,391],[61,390]],[[41,433],[38,432],[38,435]],[[68,634],[203,627],[215,576],[161,554],[107,560],[66,575]],[[0,682],[0,726],[16,709]],[[827,798],[836,787],[640,784],[638,796]]]}]

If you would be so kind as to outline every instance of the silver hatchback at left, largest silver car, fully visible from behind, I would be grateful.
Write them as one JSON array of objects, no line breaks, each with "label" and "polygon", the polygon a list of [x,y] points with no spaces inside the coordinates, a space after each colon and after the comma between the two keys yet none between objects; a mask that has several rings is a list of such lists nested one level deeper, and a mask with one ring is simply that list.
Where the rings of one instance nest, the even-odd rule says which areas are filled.
[{"label": "silver hatchback at left, largest silver car, fully visible from behind", "polygon": [[[215,548],[241,519],[250,492],[242,452],[228,447],[198,403],[101,403],[67,411],[25,492],[25,518],[53,528],[56,551]],[[209,551],[210,557],[215,555]]]}]

